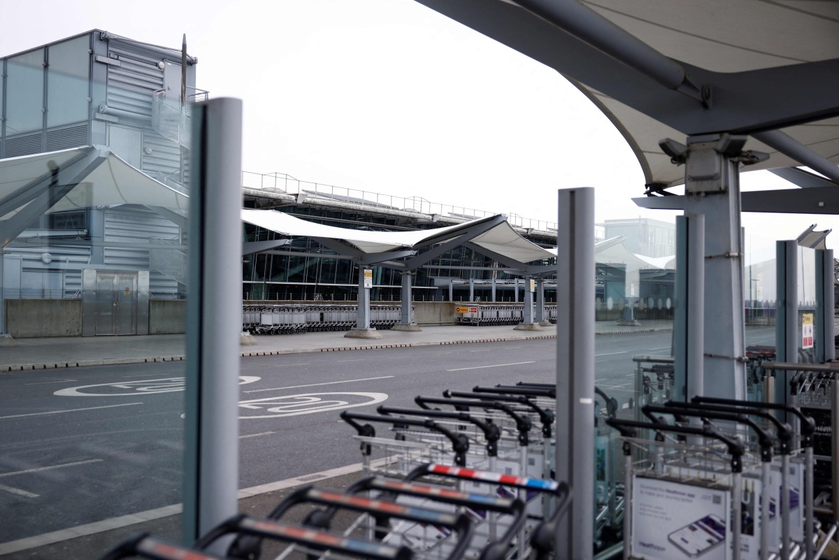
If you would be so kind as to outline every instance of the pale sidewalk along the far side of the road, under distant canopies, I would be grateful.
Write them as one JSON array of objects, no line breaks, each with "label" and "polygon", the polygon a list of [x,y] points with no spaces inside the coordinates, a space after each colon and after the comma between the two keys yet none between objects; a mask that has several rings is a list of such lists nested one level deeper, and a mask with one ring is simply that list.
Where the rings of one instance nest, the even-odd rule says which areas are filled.
[{"label": "pale sidewalk along the far side of the road, under distant canopies", "polygon": [[[614,321],[595,323],[597,334],[619,334],[671,330],[672,321],[649,320],[638,326],[621,326]],[[345,331],[277,334],[254,337],[256,345],[242,345],[242,356],[301,354],[365,348],[407,348],[410,346],[534,340],[555,338],[556,327],[542,331],[514,330],[513,325],[471,327],[448,325],[423,327],[420,332],[381,330],[381,339],[347,339]],[[106,366],[154,361],[183,360],[183,334],[149,336],[90,336],[44,339],[18,339],[14,345],[0,346],[0,373],[62,367]]]}]

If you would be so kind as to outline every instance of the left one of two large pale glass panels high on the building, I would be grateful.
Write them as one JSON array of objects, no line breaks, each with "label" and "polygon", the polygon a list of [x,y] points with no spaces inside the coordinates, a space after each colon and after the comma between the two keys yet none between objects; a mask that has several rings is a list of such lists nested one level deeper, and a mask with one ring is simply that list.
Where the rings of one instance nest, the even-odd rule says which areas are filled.
[{"label": "left one of two large pale glass panels high on the building", "polygon": [[8,59],[6,136],[44,127],[44,49]]}]

